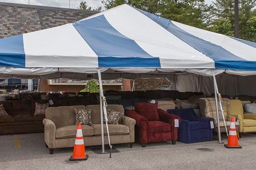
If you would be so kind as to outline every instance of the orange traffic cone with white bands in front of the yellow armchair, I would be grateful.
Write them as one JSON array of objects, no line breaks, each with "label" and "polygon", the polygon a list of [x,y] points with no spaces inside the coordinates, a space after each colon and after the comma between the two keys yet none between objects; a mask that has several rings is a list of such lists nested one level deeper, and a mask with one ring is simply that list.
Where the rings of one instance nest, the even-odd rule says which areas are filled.
[{"label": "orange traffic cone with white bands in front of the yellow armchair", "polygon": [[227,148],[242,148],[238,144],[234,118],[231,118],[230,131],[228,133],[227,144],[224,144],[224,146]]}]

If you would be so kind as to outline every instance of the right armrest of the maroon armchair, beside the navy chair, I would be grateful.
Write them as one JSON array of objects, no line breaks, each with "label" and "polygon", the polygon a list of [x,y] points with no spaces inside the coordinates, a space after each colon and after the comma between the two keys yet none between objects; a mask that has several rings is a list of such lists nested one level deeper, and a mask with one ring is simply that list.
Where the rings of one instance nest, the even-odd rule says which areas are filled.
[{"label": "right armrest of the maroon armchair, beside the navy chair", "polygon": [[175,119],[179,120],[180,124],[180,116],[174,115],[167,113],[166,111],[162,109],[157,109],[159,119],[161,122],[165,122],[171,125],[171,135],[172,135],[172,140],[176,141],[178,139],[178,127],[175,127]]}]

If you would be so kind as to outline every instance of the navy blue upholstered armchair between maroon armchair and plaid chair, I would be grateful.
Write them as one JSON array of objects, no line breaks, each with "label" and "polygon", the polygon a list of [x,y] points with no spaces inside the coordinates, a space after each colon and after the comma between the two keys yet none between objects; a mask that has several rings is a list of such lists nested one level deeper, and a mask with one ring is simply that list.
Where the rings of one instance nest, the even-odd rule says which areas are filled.
[{"label": "navy blue upholstered armchair between maroon armchair and plaid chair", "polygon": [[178,141],[194,143],[212,140],[212,119],[199,117],[192,108],[169,109],[167,112],[180,116]]}]

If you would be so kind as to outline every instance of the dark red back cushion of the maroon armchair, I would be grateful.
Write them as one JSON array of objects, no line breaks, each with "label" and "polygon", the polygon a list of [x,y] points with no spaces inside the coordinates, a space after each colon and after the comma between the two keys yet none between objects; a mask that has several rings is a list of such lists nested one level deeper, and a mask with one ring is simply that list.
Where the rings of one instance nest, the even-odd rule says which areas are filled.
[{"label": "dark red back cushion of the maroon armchair", "polygon": [[144,116],[148,121],[159,121],[157,111],[157,102],[155,103],[134,103],[135,111]]}]

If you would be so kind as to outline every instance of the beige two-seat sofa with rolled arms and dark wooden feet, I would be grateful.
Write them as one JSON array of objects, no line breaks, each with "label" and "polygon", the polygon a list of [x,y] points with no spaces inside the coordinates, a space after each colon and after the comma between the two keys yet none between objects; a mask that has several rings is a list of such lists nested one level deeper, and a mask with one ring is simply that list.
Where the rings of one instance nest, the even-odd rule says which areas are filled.
[{"label": "beige two-seat sofa with rolled arms and dark wooden feet", "polygon": [[[73,147],[76,139],[77,125],[75,125],[74,108],[92,110],[93,125],[81,125],[84,136],[84,145],[101,145],[101,125],[100,125],[100,106],[99,105],[79,105],[50,107],[45,111],[44,123],[44,142],[49,147],[50,154],[54,148]],[[122,105],[108,105],[109,109],[124,113]],[[127,116],[122,116],[119,125],[108,125],[111,144],[134,142],[135,120]],[[108,144],[106,126],[104,125],[104,141]]]}]

